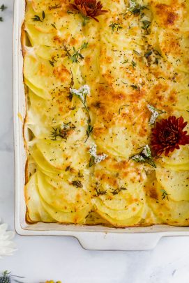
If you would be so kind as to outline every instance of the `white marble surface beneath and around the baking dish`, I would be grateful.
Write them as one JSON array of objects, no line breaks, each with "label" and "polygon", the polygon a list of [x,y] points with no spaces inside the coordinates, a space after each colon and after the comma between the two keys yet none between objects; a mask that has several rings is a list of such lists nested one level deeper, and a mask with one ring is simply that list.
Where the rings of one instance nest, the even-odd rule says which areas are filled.
[{"label": "white marble surface beneath and around the baking dish", "polygon": [[[20,0],[21,1],[21,0]],[[0,22],[0,217],[14,229],[12,99],[13,0]],[[16,236],[17,252],[0,259],[0,271],[24,275],[27,283],[188,283],[189,238],[163,238],[148,252],[83,250],[75,238]]]}]

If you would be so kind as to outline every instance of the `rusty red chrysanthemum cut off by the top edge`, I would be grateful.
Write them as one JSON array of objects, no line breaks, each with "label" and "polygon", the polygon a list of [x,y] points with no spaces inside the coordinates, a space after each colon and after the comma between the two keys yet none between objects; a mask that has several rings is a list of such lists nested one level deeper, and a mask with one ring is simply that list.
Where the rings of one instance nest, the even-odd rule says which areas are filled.
[{"label": "rusty red chrysanthemum cut off by the top edge", "polygon": [[78,10],[85,19],[92,17],[96,22],[99,22],[98,19],[96,19],[97,16],[108,12],[107,10],[103,10],[101,2],[97,2],[96,0],[75,0],[75,4],[70,5],[75,10]]}]

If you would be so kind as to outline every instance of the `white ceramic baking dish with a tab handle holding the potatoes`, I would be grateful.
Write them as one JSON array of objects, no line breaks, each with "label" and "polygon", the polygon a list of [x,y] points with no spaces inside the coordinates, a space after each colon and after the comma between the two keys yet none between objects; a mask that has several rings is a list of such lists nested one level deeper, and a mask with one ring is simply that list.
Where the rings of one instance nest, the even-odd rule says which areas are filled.
[{"label": "white ceramic baking dish with a tab handle holding the potatoes", "polygon": [[162,236],[188,236],[189,227],[154,225],[114,229],[103,226],[77,226],[64,224],[28,224],[25,220],[24,170],[26,154],[22,135],[25,116],[25,95],[22,75],[21,27],[24,21],[24,0],[15,0],[14,50],[13,50],[13,99],[15,131],[15,229],[24,236],[54,235],[74,236],[90,250],[149,250]]}]

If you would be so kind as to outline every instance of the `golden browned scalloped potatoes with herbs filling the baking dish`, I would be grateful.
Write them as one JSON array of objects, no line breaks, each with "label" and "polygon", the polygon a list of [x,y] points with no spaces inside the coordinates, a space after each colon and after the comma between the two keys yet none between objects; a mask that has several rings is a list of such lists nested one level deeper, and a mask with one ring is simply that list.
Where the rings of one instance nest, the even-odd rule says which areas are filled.
[{"label": "golden browned scalloped potatoes with herbs filling the baking dish", "polygon": [[189,147],[157,157],[151,135],[189,121],[189,1],[74,3],[26,3],[27,221],[188,226]]}]

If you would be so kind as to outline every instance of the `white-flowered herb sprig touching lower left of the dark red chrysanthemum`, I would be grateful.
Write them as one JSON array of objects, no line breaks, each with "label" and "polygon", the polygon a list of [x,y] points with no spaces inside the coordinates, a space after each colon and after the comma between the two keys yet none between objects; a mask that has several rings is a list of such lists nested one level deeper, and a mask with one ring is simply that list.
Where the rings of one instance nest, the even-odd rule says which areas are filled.
[{"label": "white-flowered herb sprig touching lower left of the dark red chrysanthemum", "polygon": [[142,151],[131,156],[130,159],[134,160],[135,162],[147,163],[151,165],[152,167],[156,168],[156,164],[153,162],[153,159],[151,156],[151,149],[149,148],[148,144],[142,147]]}]

